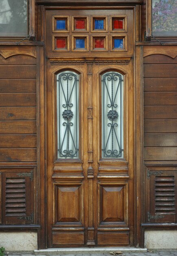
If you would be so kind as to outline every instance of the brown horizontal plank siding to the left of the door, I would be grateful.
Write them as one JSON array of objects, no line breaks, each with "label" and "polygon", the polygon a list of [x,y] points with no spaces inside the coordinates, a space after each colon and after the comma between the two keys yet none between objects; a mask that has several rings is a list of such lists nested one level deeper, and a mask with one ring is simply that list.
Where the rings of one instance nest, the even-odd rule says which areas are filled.
[{"label": "brown horizontal plank siding to the left of the door", "polygon": [[30,48],[32,56],[18,49],[13,56],[11,47],[1,49],[0,162],[37,161],[36,48]]}]

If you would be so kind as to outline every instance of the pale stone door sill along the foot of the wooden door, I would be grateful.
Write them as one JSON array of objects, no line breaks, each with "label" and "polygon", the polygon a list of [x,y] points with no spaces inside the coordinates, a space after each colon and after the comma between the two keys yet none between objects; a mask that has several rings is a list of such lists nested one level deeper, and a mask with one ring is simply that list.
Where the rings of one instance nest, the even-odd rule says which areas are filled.
[{"label": "pale stone door sill along the foot of the wooden door", "polygon": [[122,252],[147,252],[146,248],[135,248],[135,247],[70,247],[70,248],[47,248],[41,250],[34,250],[35,254],[37,253],[44,253],[44,252],[115,252],[115,251],[122,251]]}]

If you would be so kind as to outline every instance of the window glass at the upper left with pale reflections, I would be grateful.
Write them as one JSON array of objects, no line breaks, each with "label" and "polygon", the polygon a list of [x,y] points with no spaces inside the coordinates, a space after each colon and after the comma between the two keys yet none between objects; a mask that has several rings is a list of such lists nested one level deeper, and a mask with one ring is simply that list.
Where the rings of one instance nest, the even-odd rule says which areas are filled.
[{"label": "window glass at the upper left with pale reflections", "polygon": [[0,35],[27,36],[27,0],[0,0]]}]

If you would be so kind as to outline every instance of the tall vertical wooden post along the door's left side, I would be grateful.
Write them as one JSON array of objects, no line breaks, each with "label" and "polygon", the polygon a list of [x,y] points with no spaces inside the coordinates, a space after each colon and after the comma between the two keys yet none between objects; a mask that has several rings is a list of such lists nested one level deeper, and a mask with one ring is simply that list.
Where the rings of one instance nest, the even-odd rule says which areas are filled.
[{"label": "tall vertical wooden post along the door's left side", "polygon": [[[37,47],[37,222],[41,225],[38,230],[38,249],[46,248],[46,214],[45,214],[45,105],[44,105],[44,47]],[[37,224],[38,224],[37,223]]]}]

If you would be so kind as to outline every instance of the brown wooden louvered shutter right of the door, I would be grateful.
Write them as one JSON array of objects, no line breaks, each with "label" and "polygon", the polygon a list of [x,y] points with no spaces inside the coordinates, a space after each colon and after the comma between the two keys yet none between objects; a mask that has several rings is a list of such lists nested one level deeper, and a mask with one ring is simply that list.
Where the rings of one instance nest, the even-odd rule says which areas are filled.
[{"label": "brown wooden louvered shutter right of the door", "polygon": [[147,222],[177,222],[177,171],[148,170],[147,181]]}]

